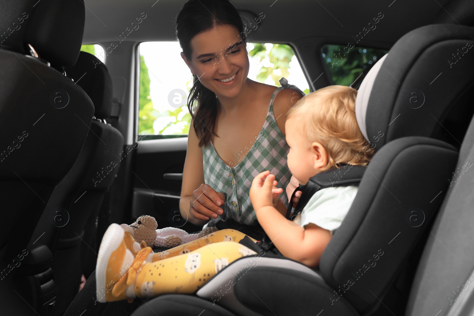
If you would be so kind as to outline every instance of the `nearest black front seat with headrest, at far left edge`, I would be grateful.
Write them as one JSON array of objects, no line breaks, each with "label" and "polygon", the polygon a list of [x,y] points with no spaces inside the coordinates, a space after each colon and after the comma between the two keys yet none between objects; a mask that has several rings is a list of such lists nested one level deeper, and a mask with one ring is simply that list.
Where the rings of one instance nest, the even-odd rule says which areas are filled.
[{"label": "nearest black front seat with headrest, at far left edge", "polygon": [[[5,219],[0,232],[0,313],[16,315],[8,307],[18,303],[30,312],[31,307],[25,303],[27,295],[12,289],[23,285],[12,282],[14,276],[40,273],[31,279],[42,293],[33,308],[43,308],[54,297],[46,264],[51,254],[26,248],[53,190],[81,152],[94,107],[63,70],[79,55],[83,2],[3,1],[0,7],[2,32],[11,32],[6,41],[2,33],[0,47],[0,205]],[[40,270],[25,268],[40,263],[45,263]]]}]

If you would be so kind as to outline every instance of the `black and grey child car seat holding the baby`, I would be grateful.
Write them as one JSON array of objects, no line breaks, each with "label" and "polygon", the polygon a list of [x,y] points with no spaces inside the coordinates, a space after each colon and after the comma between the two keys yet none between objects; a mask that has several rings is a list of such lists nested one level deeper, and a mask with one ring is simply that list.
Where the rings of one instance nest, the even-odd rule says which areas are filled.
[{"label": "black and grey child car seat holding the baby", "polygon": [[133,315],[177,315],[184,308],[199,314],[214,304],[235,315],[386,315],[387,307],[403,313],[473,116],[474,54],[465,54],[458,67],[446,62],[471,36],[470,27],[420,27],[402,36],[365,77],[356,116],[376,154],[319,269],[247,256],[196,292],[202,304],[180,307],[186,298],[166,294]]}]

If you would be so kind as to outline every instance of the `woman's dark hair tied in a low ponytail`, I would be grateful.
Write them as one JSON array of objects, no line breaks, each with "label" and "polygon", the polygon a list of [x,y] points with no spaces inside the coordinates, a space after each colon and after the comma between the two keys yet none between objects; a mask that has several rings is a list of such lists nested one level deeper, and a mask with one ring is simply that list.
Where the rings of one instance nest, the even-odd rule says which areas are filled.
[{"label": "woman's dark hair tied in a low ponytail", "polygon": [[[246,44],[245,19],[229,0],[189,0],[176,17],[176,37],[187,60],[191,61],[191,39],[197,34],[221,25],[233,25],[239,38]],[[248,33],[248,32],[247,32]],[[229,43],[233,44],[233,43]],[[194,101],[197,100],[195,112]],[[207,146],[217,117],[216,94],[204,87],[197,76],[188,96],[188,109],[193,119],[194,130],[200,138],[199,146]],[[217,136],[217,135],[216,135]]]}]

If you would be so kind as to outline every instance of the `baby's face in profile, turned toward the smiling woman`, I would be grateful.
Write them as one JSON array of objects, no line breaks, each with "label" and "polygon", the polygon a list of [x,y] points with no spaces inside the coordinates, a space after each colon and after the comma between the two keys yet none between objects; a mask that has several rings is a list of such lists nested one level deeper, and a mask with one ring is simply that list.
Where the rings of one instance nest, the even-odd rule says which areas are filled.
[{"label": "baby's face in profile, turned toward the smiling woman", "polygon": [[290,146],[287,157],[288,168],[300,184],[306,184],[312,176],[318,173],[318,169],[314,167],[315,154],[311,152],[310,145],[301,135],[298,124],[298,120],[294,117],[286,120],[285,123],[286,143]]}]

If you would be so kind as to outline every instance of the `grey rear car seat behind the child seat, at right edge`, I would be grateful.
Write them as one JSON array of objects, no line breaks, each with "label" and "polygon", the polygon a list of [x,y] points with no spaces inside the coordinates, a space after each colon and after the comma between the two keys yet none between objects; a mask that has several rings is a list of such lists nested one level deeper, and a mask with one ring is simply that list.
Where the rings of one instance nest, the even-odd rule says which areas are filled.
[{"label": "grey rear car seat behind the child seat, at right edge", "polygon": [[[439,10],[435,23],[474,26],[474,2],[448,1]],[[472,38],[469,42],[474,44]],[[464,138],[447,197],[423,251],[405,315],[474,314],[474,174],[470,170],[473,156],[474,119]]]}]

